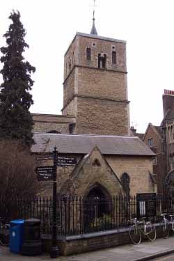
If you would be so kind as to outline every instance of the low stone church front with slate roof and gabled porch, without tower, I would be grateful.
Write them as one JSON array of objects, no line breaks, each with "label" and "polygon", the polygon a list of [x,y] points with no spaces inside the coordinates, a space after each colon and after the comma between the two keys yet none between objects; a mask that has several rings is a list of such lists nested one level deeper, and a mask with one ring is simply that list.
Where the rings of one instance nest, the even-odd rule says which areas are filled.
[{"label": "low stone church front with slate roof and gabled porch, without tower", "polygon": [[[97,136],[79,134],[34,134],[32,152],[37,155],[51,152],[54,145],[58,157],[74,157],[75,166],[58,166],[58,193],[85,196],[94,187],[109,198],[140,193],[155,193],[151,178],[155,154],[143,141],[134,136]],[[52,165],[52,160],[42,162]],[[124,175],[129,177],[127,189]],[[52,184],[45,182],[43,194],[52,194]]]}]

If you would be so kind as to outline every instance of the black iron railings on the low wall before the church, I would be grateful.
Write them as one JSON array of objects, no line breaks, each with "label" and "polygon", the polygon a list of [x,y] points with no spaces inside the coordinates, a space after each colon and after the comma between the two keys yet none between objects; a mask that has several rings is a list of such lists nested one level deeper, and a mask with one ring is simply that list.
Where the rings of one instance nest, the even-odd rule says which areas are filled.
[{"label": "black iron railings on the low wall before the church", "polygon": [[[52,233],[52,198],[0,200],[0,216],[12,219],[37,218],[44,234]],[[59,197],[56,202],[58,235],[79,235],[102,230],[126,228],[129,220],[146,216],[153,223],[161,213],[174,213],[174,200],[164,196],[150,198],[116,196],[111,200],[80,196]]]}]

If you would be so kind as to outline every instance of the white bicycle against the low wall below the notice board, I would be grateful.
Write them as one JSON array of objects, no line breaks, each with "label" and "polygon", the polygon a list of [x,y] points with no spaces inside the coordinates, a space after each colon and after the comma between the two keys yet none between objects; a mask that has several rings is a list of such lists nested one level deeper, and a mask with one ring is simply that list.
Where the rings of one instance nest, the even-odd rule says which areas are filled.
[{"label": "white bicycle against the low wall below the notice board", "polygon": [[154,241],[157,236],[155,226],[150,221],[145,222],[145,217],[142,219],[143,221],[138,221],[134,218],[130,221],[133,224],[129,227],[129,237],[135,245],[141,243],[141,234],[147,236],[150,241]]}]

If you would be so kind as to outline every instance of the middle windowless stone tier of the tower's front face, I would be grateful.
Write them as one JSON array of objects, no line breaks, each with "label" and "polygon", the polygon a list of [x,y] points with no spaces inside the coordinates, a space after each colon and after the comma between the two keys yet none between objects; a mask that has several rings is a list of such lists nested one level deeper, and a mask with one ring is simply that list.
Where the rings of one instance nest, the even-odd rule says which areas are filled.
[{"label": "middle windowless stone tier of the tower's front face", "polygon": [[78,95],[127,100],[127,74],[110,70],[78,68]]}]

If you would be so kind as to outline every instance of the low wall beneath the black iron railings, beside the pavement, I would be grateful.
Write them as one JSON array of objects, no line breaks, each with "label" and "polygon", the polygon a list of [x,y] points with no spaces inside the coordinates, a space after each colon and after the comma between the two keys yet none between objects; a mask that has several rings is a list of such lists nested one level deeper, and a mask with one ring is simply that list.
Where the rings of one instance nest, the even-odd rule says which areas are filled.
[{"label": "low wall beneath the black iron railings, beside the pavement", "polygon": [[[156,224],[157,237],[161,237],[161,226]],[[44,250],[49,252],[50,237],[42,235]],[[148,240],[142,236],[142,240]],[[109,248],[112,246],[132,244],[129,239],[129,228],[95,232],[84,235],[58,237],[58,247],[60,255],[72,255],[94,251],[97,249]]]}]

